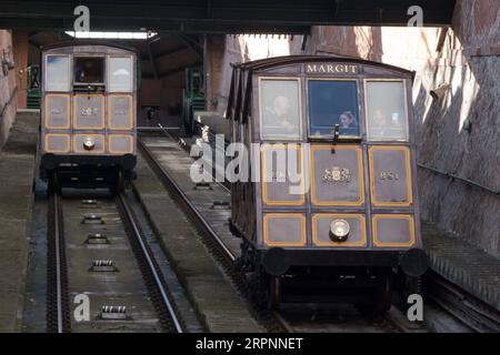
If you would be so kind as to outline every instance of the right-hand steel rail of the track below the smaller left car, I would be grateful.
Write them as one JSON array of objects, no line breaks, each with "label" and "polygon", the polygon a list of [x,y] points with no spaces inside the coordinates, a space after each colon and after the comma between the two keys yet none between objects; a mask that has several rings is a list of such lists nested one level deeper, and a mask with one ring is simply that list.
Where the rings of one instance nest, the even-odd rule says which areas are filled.
[{"label": "right-hand steel rail of the track below the smaller left car", "polygon": [[124,212],[124,219],[127,220],[124,222],[130,226],[132,235],[139,244],[141,256],[144,258],[144,261],[147,263],[148,272],[154,281],[154,285],[156,285],[158,292],[160,293],[161,301],[170,315],[170,318],[173,323],[176,332],[183,333],[181,322],[179,321],[176,310],[168,296],[168,292],[167,292],[166,287],[163,286],[162,277],[158,273],[157,267],[154,265],[154,258],[153,258],[152,254],[150,253],[149,248],[146,246],[144,240],[142,237],[142,233],[140,232],[139,226],[138,226],[138,222],[136,221],[132,209],[130,207],[128,199],[123,192],[118,195],[118,201],[120,202],[122,211]]}]

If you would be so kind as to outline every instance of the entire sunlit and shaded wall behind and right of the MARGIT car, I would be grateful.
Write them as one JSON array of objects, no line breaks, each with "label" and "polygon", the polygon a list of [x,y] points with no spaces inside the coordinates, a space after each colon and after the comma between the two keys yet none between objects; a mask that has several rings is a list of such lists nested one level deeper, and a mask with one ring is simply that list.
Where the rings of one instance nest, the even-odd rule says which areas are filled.
[{"label": "entire sunlit and shaded wall behind and right of the MARGIT car", "polygon": [[[500,190],[498,0],[458,0],[450,28],[316,27],[304,50],[302,44],[301,37],[209,38],[206,69],[208,97],[213,100],[209,109],[223,113],[229,63],[236,61],[336,53],[414,70],[418,161]],[[430,90],[442,83],[450,90],[432,100]],[[424,220],[500,255],[500,196],[424,169],[418,176]]]}]

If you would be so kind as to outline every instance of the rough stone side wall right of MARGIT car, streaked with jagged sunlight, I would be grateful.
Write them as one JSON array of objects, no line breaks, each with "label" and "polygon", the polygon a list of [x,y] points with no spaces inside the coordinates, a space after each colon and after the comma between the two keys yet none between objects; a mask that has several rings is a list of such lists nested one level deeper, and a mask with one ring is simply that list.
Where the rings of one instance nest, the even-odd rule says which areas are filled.
[{"label": "rough stone side wall right of MARGIT car, streaked with jagged sunlight", "polygon": [[[439,59],[414,85],[419,160],[500,191],[500,2],[458,1]],[[439,101],[428,91],[451,85]],[[423,217],[500,254],[500,195],[420,171]]]}]

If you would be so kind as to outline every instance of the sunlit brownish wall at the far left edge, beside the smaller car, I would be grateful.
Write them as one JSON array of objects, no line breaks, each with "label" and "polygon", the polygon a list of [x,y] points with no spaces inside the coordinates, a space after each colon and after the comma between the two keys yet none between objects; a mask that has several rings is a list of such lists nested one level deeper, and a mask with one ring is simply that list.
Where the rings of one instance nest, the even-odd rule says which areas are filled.
[{"label": "sunlit brownish wall at the far left edge, beside the smaller car", "polygon": [[[10,60],[13,60],[12,54],[12,37],[11,32],[8,30],[0,30],[0,62],[3,58],[3,52],[6,52],[7,57]],[[0,114],[3,110],[4,105],[9,101],[12,94],[14,97],[11,100],[11,103],[6,106],[3,111],[3,115],[0,116],[0,148],[7,140],[9,134],[9,130],[16,120],[16,111],[17,111],[17,98],[16,98],[16,70],[10,70],[7,75],[3,74],[3,71],[0,69]]]}]

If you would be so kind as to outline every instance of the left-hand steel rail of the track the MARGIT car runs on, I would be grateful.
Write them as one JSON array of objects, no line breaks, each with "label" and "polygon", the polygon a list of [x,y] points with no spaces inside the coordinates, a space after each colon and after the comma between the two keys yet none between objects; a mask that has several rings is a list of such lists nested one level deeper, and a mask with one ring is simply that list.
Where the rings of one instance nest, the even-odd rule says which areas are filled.
[{"label": "left-hand steel rail of the track the MARGIT car runs on", "polygon": [[224,245],[222,240],[219,237],[216,231],[211,227],[211,225],[204,220],[201,215],[200,211],[198,211],[197,206],[191,202],[191,200],[186,195],[182,189],[177,184],[173,178],[167,172],[163,166],[154,159],[152,152],[149,148],[141,141],[138,140],[138,146],[143,153],[146,160],[150,163],[150,166],[158,173],[160,181],[163,185],[173,192],[180,197],[182,203],[187,205],[187,207],[194,214],[197,221],[203,226],[203,230],[212,237],[212,240],[217,243],[217,247],[221,250],[221,252],[231,261],[234,262],[237,258],[236,255]]}]

